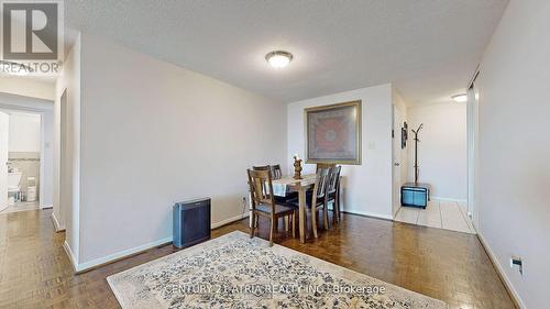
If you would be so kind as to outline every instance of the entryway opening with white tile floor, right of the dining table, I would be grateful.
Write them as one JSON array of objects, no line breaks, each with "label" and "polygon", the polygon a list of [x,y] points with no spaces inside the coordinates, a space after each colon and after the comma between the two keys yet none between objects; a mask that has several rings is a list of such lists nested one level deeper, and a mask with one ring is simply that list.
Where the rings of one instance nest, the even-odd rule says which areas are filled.
[{"label": "entryway opening with white tile floor, right of the dining table", "polygon": [[[395,109],[394,109],[395,110]],[[394,151],[394,165],[407,161],[407,176],[403,183],[415,186],[416,165],[415,134],[418,132],[418,181],[427,184],[430,199],[420,207],[405,207],[398,202],[395,221],[444,229],[464,233],[476,233],[469,217],[469,157],[466,102],[448,100],[431,104],[409,106],[406,110],[408,123],[407,151]],[[394,121],[398,113],[394,111]],[[394,128],[396,130],[397,128]],[[394,139],[394,150],[397,141]],[[394,179],[398,179],[394,166]],[[400,188],[394,183],[394,199],[400,196]],[[394,206],[395,207],[395,206]]]}]

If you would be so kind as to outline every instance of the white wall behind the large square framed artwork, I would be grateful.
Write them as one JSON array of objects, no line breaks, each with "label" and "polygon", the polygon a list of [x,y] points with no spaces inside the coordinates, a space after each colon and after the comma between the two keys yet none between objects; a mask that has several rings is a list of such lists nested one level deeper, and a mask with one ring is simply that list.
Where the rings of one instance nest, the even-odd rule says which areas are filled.
[{"label": "white wall behind the large square framed artwork", "polygon": [[[286,159],[292,170],[293,154],[305,157],[304,109],[353,100],[362,100],[362,165],[344,165],[342,181],[344,211],[392,219],[392,85],[289,103],[288,151]],[[315,173],[306,164],[302,173]]]}]

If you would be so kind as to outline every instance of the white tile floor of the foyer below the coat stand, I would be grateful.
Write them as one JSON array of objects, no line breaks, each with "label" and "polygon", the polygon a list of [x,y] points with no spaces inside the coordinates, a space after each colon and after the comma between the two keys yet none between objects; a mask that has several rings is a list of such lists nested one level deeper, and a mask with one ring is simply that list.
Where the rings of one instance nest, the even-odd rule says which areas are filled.
[{"label": "white tile floor of the foyer below the coat stand", "polygon": [[465,203],[431,200],[426,209],[402,207],[395,221],[475,234]]}]

